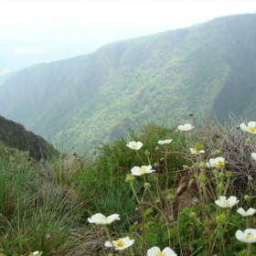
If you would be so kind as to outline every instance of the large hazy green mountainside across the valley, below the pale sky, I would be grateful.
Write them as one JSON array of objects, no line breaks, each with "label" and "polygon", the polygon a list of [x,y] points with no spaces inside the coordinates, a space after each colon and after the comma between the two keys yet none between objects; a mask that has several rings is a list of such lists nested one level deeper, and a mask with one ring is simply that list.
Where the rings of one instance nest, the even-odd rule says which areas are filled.
[{"label": "large hazy green mountainside across the valley, below the pale sky", "polygon": [[42,63],[5,80],[0,114],[81,150],[188,111],[255,120],[255,41],[256,15],[227,16]]}]

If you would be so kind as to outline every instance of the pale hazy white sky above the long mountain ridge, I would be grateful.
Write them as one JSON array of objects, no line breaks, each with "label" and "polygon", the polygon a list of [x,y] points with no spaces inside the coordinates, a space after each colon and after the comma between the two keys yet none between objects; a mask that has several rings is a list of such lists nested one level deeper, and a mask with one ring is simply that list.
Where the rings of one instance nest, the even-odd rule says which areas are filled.
[{"label": "pale hazy white sky above the long mountain ridge", "polygon": [[219,16],[256,13],[256,1],[0,0],[0,75]]}]

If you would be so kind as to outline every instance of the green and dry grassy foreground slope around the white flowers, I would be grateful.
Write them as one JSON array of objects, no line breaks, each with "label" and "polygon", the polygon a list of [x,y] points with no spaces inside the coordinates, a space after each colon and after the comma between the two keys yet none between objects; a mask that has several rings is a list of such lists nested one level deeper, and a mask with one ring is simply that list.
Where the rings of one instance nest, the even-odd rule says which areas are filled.
[{"label": "green and dry grassy foreground slope around the white flowers", "polygon": [[[63,154],[37,162],[1,144],[0,255],[123,255],[104,246],[109,237],[101,225],[88,222],[98,212],[120,215],[107,227],[113,240],[134,240],[124,255],[145,255],[154,246],[184,256],[256,255],[253,244],[235,236],[253,228],[254,217],[241,217],[237,205],[215,204],[223,195],[228,201],[236,196],[245,209],[255,204],[254,135],[237,123],[202,118],[187,133],[147,124],[100,144],[90,160]],[[165,139],[173,141],[157,143]],[[130,141],[144,145],[135,151],[127,147]],[[189,148],[201,144],[205,154],[191,155]],[[202,167],[217,156],[225,165]],[[125,182],[133,166],[142,165],[155,172]]]}]

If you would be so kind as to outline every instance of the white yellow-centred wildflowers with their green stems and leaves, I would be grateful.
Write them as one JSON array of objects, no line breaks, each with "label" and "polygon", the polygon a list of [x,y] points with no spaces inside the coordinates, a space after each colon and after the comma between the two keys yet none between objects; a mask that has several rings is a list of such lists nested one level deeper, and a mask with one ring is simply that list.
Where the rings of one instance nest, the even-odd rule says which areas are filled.
[{"label": "white yellow-centred wildflowers with their green stems and leaves", "polygon": [[[203,144],[190,146],[189,138],[193,128],[194,126],[189,123],[177,126],[177,130],[184,133],[187,142],[187,153],[190,155],[191,160],[191,166],[187,165],[184,168],[190,173],[187,184],[188,187],[193,185],[197,188],[197,195],[193,197],[193,203],[190,207],[183,207],[181,200],[179,200],[180,191],[185,187],[183,183],[180,182],[176,188],[170,188],[169,184],[170,170],[166,159],[171,154],[168,152],[168,145],[173,143],[174,139],[167,138],[157,141],[159,144],[157,150],[161,149],[161,146],[165,147],[165,151],[160,151],[164,154],[162,159],[165,160],[165,187],[159,186],[158,176],[150,163],[149,156],[151,153],[148,150],[145,150],[144,153],[148,159],[148,165],[133,166],[130,169],[130,173],[126,175],[125,181],[131,186],[133,196],[136,199],[136,208],[141,213],[141,223],[136,224],[138,228],[133,226],[131,230],[141,232],[140,235],[142,237],[139,244],[142,255],[174,256],[177,255],[176,250],[180,255],[183,255],[182,251],[187,251],[187,253],[190,251],[191,255],[197,255],[197,251],[200,251],[200,255],[213,255],[213,251],[219,252],[218,255],[230,255],[227,248],[228,241],[231,253],[236,252],[236,255],[244,255],[242,253],[245,252],[246,255],[251,255],[251,251],[254,250],[251,247],[251,243],[256,242],[256,229],[252,228],[253,224],[255,224],[253,215],[256,213],[256,209],[250,207],[245,210],[240,207],[236,210],[240,217],[245,218],[246,221],[240,219],[232,211],[232,208],[235,208],[242,201],[235,196],[227,197],[227,194],[231,192],[229,190],[229,180],[232,177],[232,172],[226,170],[227,161],[221,156],[220,150],[215,150],[211,153],[211,155],[216,156],[215,158],[208,158],[208,156],[204,155],[210,155],[207,152],[210,149],[205,150]],[[256,134],[256,123],[250,122],[248,125],[241,123],[240,129],[247,133]],[[133,141],[126,145],[136,152],[139,159],[142,159],[138,153],[144,146],[142,142]],[[256,153],[251,152],[251,158],[256,161]],[[139,197],[141,193],[136,192],[133,187],[136,179],[144,179],[144,192],[141,198]],[[153,185],[151,183],[154,180],[156,186],[155,189],[152,189]],[[244,198],[245,202],[250,202],[251,196]],[[179,210],[178,214],[176,213],[177,209]],[[155,215],[150,216],[154,211]],[[131,240],[129,236],[126,236],[112,240],[106,226],[119,219],[119,214],[105,217],[101,213],[97,213],[88,220],[90,223],[102,225],[106,230],[109,240],[104,243],[105,247],[123,251],[133,248],[133,245],[136,244],[136,239],[133,237],[134,239]],[[234,224],[231,221],[234,221]],[[158,228],[154,228],[154,225]],[[167,232],[164,232],[164,229]],[[165,233],[165,237],[163,237],[159,247],[156,243],[159,240],[156,239],[155,231],[152,230],[157,230],[158,236],[160,236],[161,232]],[[203,238],[200,238],[201,235],[203,235]],[[242,250],[242,245],[237,245],[234,238],[247,243],[247,250],[240,251]],[[198,245],[198,248],[194,247],[195,244]],[[162,248],[162,251],[160,248]],[[175,248],[175,251],[171,248]]]}]

